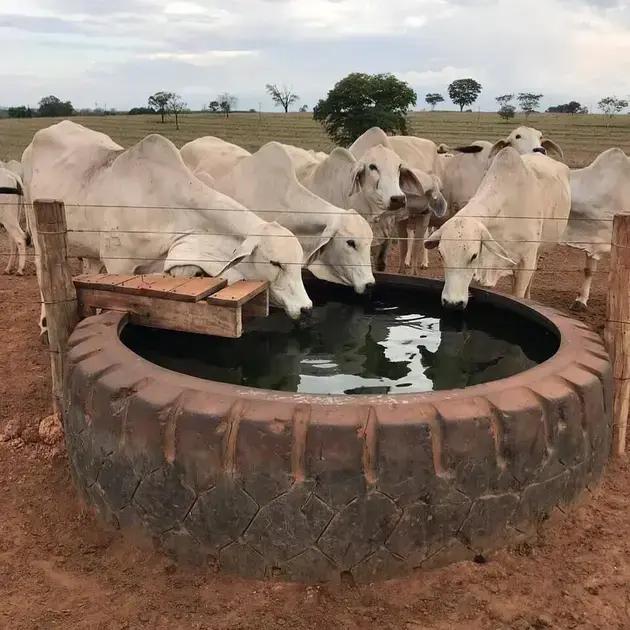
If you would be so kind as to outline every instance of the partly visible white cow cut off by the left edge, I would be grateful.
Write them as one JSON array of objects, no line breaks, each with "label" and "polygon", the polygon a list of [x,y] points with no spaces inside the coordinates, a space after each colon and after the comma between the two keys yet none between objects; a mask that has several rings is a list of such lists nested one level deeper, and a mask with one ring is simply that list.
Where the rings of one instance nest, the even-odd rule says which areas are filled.
[{"label": "partly visible white cow cut off by the left edge", "polygon": [[12,273],[16,253],[18,263],[15,273],[24,275],[26,264],[26,235],[20,227],[20,215],[23,209],[23,185],[19,175],[6,167],[0,167],[0,223],[9,237],[9,258],[4,273]]}]

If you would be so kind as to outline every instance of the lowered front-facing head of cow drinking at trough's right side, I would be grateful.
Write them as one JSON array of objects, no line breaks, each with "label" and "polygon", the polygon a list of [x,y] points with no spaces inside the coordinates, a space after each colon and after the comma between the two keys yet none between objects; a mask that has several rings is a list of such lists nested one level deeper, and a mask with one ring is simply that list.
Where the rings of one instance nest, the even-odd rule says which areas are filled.
[{"label": "lowered front-facing head of cow drinking at trough's right side", "polygon": [[[454,216],[424,243],[438,248],[444,264],[442,305],[463,310],[468,305],[472,280],[494,286],[501,275],[516,263],[478,219]],[[502,273],[504,272],[504,273]]]}]

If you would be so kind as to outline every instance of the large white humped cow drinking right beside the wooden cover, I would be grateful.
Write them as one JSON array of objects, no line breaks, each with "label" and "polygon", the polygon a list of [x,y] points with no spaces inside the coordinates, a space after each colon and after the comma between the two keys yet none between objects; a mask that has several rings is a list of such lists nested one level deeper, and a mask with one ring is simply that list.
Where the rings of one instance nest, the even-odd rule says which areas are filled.
[{"label": "large white humped cow drinking right beside the wooden cover", "polygon": [[298,240],[204,185],[162,136],[125,150],[64,121],[35,134],[23,164],[31,199],[66,203],[70,252],[89,270],[268,280],[292,318],[312,308]]}]

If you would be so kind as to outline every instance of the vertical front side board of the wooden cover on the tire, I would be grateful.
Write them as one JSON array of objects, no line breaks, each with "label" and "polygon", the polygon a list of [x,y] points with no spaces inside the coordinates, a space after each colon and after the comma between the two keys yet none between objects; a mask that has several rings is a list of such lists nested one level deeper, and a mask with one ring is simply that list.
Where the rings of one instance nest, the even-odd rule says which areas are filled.
[{"label": "vertical front side board of the wooden cover on the tire", "polygon": [[241,309],[231,306],[82,287],[77,287],[77,297],[84,307],[127,312],[129,320],[141,326],[219,337],[240,337],[243,332]]}]

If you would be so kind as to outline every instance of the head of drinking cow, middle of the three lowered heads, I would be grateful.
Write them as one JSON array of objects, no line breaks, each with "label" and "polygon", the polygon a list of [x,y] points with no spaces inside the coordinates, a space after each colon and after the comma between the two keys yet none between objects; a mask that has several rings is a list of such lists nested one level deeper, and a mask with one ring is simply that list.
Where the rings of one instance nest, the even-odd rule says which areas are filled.
[{"label": "head of drinking cow, middle of the three lowered heads", "polygon": [[368,222],[355,210],[340,211],[308,253],[306,264],[320,280],[352,286],[363,294],[374,286],[371,246]]}]

